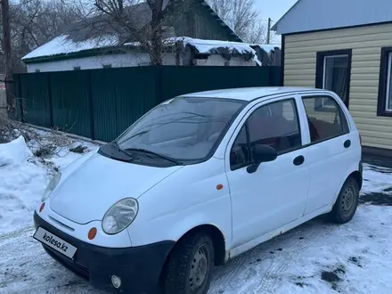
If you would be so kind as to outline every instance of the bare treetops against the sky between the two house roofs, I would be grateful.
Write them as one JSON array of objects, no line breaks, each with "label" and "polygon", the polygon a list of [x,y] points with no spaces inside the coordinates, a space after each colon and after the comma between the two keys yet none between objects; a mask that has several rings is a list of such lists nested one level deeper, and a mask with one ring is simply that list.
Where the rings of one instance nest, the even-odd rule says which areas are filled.
[{"label": "bare treetops against the sky between the two house roofs", "polygon": [[259,20],[254,0],[208,0],[208,3],[243,41],[266,43],[267,29]]}]

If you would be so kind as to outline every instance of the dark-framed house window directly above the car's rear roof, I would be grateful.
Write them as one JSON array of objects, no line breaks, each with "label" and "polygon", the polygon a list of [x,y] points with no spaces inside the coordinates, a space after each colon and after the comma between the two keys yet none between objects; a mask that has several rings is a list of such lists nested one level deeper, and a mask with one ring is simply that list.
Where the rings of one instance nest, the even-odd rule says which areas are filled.
[{"label": "dark-framed house window directly above the car's rear roof", "polygon": [[339,95],[348,106],[351,76],[351,50],[317,53],[316,87]]}]

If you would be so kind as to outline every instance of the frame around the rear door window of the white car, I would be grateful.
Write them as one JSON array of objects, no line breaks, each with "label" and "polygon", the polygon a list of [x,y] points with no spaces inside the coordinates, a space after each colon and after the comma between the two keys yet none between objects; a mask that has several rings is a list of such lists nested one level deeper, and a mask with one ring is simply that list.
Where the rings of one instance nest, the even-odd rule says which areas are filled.
[{"label": "frame around the rear door window of the white car", "polygon": [[[315,144],[323,143],[323,142],[326,142],[326,141],[329,141],[329,140],[332,140],[332,139],[339,138],[342,135],[350,134],[351,130],[350,130],[349,121],[348,121],[348,118],[347,118],[347,115],[346,115],[346,111],[344,111],[342,109],[342,106],[340,105],[340,103],[336,99],[336,97],[334,97],[334,96],[332,96],[330,94],[301,94],[299,96],[300,96],[300,99],[301,99],[303,107],[304,107],[304,112],[305,112],[305,115],[306,115],[307,131],[308,131],[308,134],[309,134],[309,143],[304,145],[303,146],[304,148],[305,147],[309,147],[309,146],[313,146]],[[323,140],[312,142],[312,138],[310,137],[310,127],[309,127],[309,123],[307,121],[308,116],[307,116],[306,106],[305,106],[305,102],[304,102],[305,99],[312,99],[312,98],[320,98],[320,99],[330,98],[330,99],[332,99],[336,103],[336,105],[338,105],[339,117],[340,117],[340,121],[342,122],[342,133],[341,134],[339,134],[339,135],[332,135],[332,136],[323,138]],[[320,111],[320,112],[323,112],[323,111]]]}]

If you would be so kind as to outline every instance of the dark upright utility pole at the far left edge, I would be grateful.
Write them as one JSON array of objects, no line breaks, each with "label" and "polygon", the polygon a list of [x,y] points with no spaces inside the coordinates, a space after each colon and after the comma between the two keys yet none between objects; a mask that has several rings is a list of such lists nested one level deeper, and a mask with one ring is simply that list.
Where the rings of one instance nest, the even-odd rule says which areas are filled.
[{"label": "dark upright utility pole at the far left edge", "polygon": [[0,0],[2,3],[3,20],[3,51],[5,60],[5,94],[7,97],[7,112],[10,114],[13,108],[13,77],[12,77],[12,56],[11,56],[11,30],[10,30],[10,4],[8,0]]}]

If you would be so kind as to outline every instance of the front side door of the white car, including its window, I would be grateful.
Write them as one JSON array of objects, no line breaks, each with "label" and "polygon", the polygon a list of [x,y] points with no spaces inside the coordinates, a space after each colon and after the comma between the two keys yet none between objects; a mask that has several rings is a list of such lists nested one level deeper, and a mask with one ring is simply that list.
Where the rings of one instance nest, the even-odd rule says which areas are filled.
[{"label": "front side door of the white car, including its window", "polygon": [[[295,99],[259,104],[241,120],[225,159],[232,199],[233,248],[303,216],[308,169],[302,140]],[[257,144],[274,147],[278,157],[249,172]]]}]

